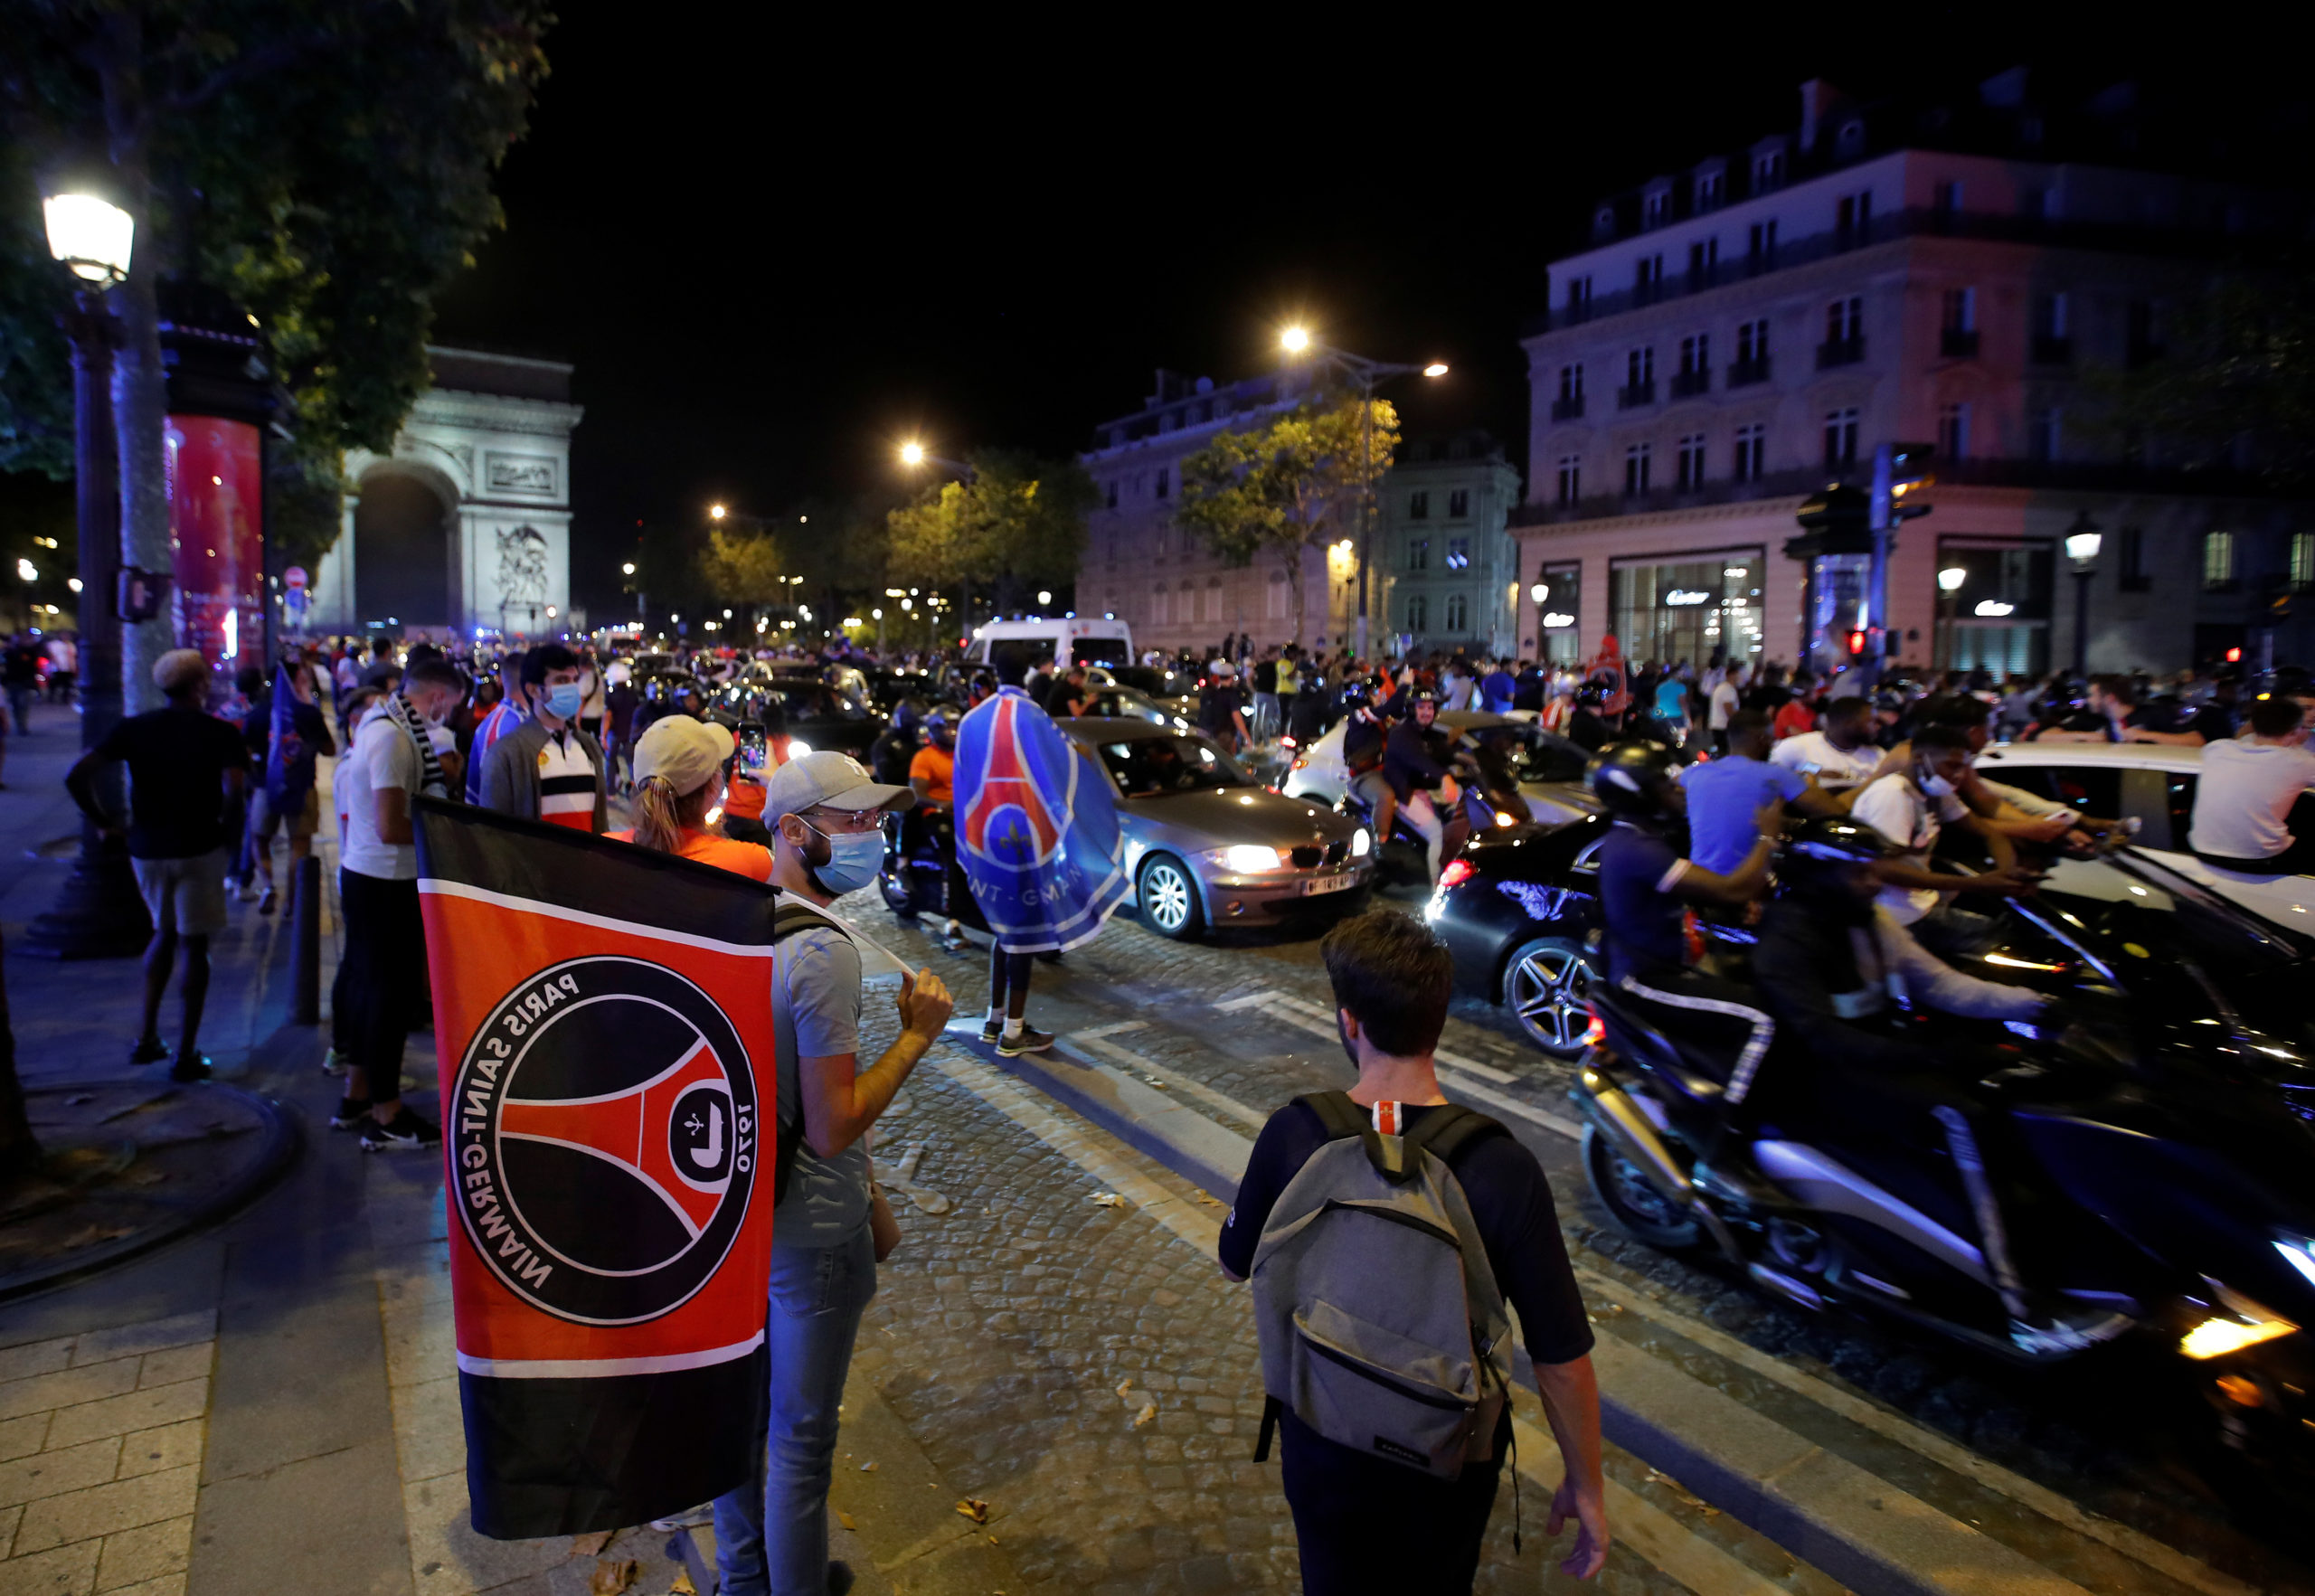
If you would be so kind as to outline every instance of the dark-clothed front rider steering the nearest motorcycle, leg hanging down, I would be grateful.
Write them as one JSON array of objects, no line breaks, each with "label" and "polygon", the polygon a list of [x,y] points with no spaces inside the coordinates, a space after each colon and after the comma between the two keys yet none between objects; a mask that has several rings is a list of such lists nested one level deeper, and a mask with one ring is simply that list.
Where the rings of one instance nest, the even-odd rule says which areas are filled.
[{"label": "dark-clothed front rider steering the nearest motorcycle, leg hanging down", "polygon": [[[1752,980],[1787,1040],[1827,1070],[1824,1084],[1838,1082],[1847,1123],[1861,1114],[1877,1114],[1884,1126],[1917,1126],[1924,1114],[1938,1123],[2019,1350],[2081,1350],[2127,1320],[2053,1311],[2026,1290],[1986,1170],[1989,1142],[1996,1165],[2007,1154],[1998,1135],[2000,1110],[1940,1052],[1896,1035],[1884,1022],[1896,998],[1908,1008],[2040,1028],[2056,1022],[2056,1001],[1963,975],[1921,947],[1882,901],[1882,871],[1896,857],[1871,825],[1840,815],[1801,822],[1778,869],[1785,889],[1769,906],[1752,947]],[[1780,1096],[1787,1091],[1780,1086]],[[1801,1091],[1813,1100],[1827,1096],[1817,1082]]]}]

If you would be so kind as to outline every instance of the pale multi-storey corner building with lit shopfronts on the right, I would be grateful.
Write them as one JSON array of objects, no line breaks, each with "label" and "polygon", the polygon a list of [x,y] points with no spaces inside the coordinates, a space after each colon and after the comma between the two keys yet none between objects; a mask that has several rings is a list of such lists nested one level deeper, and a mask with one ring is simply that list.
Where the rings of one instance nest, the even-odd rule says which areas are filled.
[{"label": "pale multi-storey corner building with lit shopfronts on the right", "polygon": [[2243,646],[2273,593],[2315,581],[2315,521],[2248,473],[2100,431],[2090,373],[2160,357],[2220,257],[2308,211],[2185,176],[2158,130],[2130,86],[2060,104],[2007,72],[1968,104],[1880,107],[1813,81],[1799,127],[1602,202],[1523,338],[1523,651],[1831,646],[1859,574],[1820,570],[1803,616],[1783,544],[1803,496],[1861,484],[1896,440],[1933,442],[1938,473],[1889,572],[1896,660],[2070,662],[2063,540],[2086,526],[2093,669]]}]

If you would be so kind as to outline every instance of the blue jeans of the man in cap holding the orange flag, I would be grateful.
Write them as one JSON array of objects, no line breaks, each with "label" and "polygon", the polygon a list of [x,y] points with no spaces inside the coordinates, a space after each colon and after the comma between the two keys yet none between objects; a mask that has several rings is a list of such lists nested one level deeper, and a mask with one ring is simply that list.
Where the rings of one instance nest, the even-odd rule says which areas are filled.
[{"label": "blue jeans of the man in cap holding the orange flag", "polygon": [[868,1225],[836,1246],[771,1249],[771,1448],[757,1480],[715,1499],[722,1596],[824,1596],[836,1406],[875,1295]]}]

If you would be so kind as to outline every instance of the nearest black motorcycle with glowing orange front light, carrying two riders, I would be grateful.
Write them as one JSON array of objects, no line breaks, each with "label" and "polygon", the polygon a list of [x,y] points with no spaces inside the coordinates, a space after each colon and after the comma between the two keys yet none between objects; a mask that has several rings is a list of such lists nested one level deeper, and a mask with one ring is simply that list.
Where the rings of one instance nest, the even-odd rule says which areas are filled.
[{"label": "nearest black motorcycle with glowing orange front light, carrying two riders", "polygon": [[[2225,947],[2155,945],[2158,917],[2127,896],[2153,876],[2127,862],[2121,873],[2125,896],[2097,915],[2021,906],[2023,936],[1998,950],[2053,989],[2067,973],[2111,980],[2130,966],[2130,989],[2095,987],[2130,1015],[2095,1026],[2095,1040],[2081,1026],[2053,1038],[2012,1024],[1984,1042],[1977,1096],[1998,1107],[2012,1149],[1998,1207],[2030,1214],[2012,1237],[2063,1318],[2100,1320],[2097,1341],[2167,1344],[2197,1376],[2218,1438],[2303,1482],[2315,1478],[2315,1348],[2301,1332],[2315,1325],[2315,1038],[2287,996],[2259,1015],[2220,987],[2250,966],[2273,991],[2273,975],[2303,971],[2303,952],[2250,927],[2236,968],[2213,978],[2204,961]],[[2211,924],[2246,931],[2225,917],[2199,929]],[[2206,994],[2199,1008],[2195,991]],[[1755,1091],[1734,1112],[1722,1091],[1736,1047],[1669,1033],[1604,982],[1588,1003],[1572,1096],[1586,1181],[1618,1230],[1664,1251],[1708,1249],[1803,1309],[1905,1320],[2005,1362],[2102,1355],[2012,1339],[1935,1126],[1875,1133],[1845,1110],[1838,1066],[1776,1045],[1755,1079],[1785,1072],[1806,1089]],[[1986,1022],[1910,1024],[1935,1035]],[[1940,1056],[1968,1054],[1947,1045]]]}]

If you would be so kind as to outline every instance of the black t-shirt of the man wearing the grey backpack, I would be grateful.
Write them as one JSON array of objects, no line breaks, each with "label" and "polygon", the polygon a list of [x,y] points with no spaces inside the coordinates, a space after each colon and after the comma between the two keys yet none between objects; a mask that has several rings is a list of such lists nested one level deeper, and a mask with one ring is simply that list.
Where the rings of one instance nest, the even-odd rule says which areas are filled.
[{"label": "black t-shirt of the man wearing the grey backpack", "polygon": [[[1435,1112],[1435,1105],[1408,1107],[1408,1130]],[[1218,1253],[1225,1269],[1239,1276],[1252,1274],[1255,1246],[1271,1209],[1278,1207],[1278,1195],[1324,1144],[1326,1126],[1317,1110],[1301,1100],[1287,1103],[1262,1126],[1255,1154],[1245,1161],[1245,1177],[1239,1181],[1239,1202],[1222,1221]],[[1528,1357],[1539,1364],[1565,1364],[1588,1353],[1593,1327],[1577,1293],[1577,1272],[1567,1262],[1567,1242],[1560,1239],[1551,1181],[1544,1179],[1535,1154],[1509,1135],[1482,1135],[1456,1156],[1454,1177],[1463,1184],[1470,1216],[1479,1225],[1495,1286],[1505,1302],[1519,1309]]]}]

